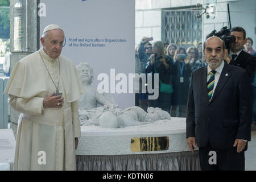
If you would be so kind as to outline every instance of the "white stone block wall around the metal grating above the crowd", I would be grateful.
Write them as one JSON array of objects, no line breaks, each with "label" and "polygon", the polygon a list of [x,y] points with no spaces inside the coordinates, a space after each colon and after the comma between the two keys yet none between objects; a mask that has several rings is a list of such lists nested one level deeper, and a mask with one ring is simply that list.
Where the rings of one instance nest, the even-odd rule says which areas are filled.
[{"label": "white stone block wall around the metal grating above the crowd", "polygon": [[[245,0],[217,0],[216,6],[216,18],[205,18],[203,15],[203,38],[212,30],[217,31],[224,26],[228,26],[228,13],[227,4],[229,3],[233,7],[239,7],[234,5],[234,2],[243,3]],[[254,1],[254,0],[249,0]],[[139,44],[143,36],[153,37],[154,41],[161,40],[162,38],[162,9],[171,8],[172,10],[182,9],[185,6],[197,5],[197,3],[204,4],[214,3],[213,0],[135,0],[135,46]],[[243,6],[245,7],[245,6]],[[245,7],[245,10],[247,8]]]}]

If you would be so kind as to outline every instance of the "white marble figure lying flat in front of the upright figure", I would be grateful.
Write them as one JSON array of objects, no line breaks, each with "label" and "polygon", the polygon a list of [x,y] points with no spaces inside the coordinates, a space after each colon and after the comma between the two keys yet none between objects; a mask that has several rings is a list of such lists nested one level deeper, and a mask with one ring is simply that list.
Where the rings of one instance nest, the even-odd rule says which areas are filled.
[{"label": "white marble figure lying flat in front of the upright figure", "polygon": [[80,112],[81,126],[96,125],[105,128],[118,128],[146,125],[159,119],[171,119],[171,116],[167,111],[158,107],[149,107],[146,112],[138,106],[131,106],[124,110],[118,107],[101,106]]}]

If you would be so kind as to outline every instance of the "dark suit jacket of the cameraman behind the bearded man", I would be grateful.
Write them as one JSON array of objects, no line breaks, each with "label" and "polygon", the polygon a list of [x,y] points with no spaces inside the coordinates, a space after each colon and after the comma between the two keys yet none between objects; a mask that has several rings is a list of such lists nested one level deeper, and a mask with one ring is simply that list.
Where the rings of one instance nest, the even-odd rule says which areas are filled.
[{"label": "dark suit jacket of the cameraman behind the bearded man", "polygon": [[252,76],[254,76],[256,57],[250,55],[245,51],[241,51],[236,61],[230,61],[229,64],[245,69],[249,74],[249,77],[251,78]]}]

